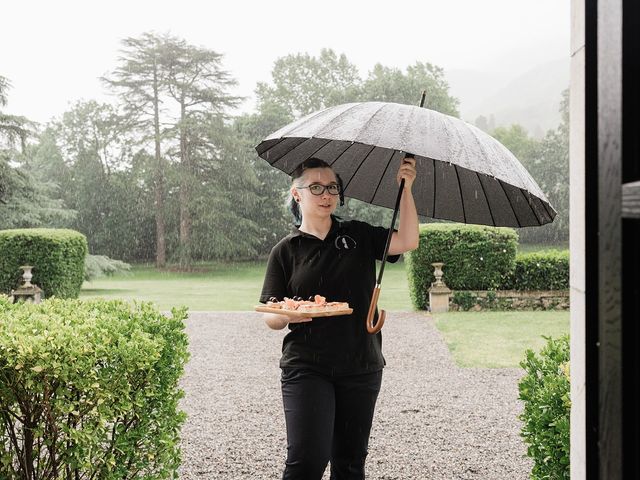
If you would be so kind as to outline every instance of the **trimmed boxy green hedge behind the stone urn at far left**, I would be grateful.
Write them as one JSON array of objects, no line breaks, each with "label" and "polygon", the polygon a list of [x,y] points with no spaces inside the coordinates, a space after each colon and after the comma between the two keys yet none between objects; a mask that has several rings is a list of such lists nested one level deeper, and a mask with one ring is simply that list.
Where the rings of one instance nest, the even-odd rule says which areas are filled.
[{"label": "trimmed boxy green hedge behind the stone urn at far left", "polygon": [[66,229],[0,231],[0,292],[22,284],[22,265],[33,265],[32,283],[45,297],[77,298],[84,281],[87,238]]}]

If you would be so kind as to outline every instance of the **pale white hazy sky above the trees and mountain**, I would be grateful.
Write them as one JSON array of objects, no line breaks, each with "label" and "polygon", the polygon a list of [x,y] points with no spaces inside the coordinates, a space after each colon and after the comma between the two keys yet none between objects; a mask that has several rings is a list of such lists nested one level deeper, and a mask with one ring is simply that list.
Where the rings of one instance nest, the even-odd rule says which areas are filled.
[{"label": "pale white hazy sky above the trees and mountain", "polygon": [[80,99],[107,101],[98,77],[122,38],[145,31],[223,53],[233,93],[249,97],[277,58],[325,47],[363,77],[377,62],[522,73],[569,55],[569,0],[16,0],[0,13],[6,111],[40,122]]}]

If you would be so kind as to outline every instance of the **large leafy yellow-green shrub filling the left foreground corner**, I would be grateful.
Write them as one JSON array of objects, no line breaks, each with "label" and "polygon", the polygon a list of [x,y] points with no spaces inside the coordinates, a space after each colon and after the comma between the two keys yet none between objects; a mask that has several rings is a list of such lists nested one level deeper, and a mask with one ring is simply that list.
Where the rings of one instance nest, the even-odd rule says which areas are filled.
[{"label": "large leafy yellow-green shrub filling the left foreground corner", "polygon": [[0,478],[176,478],[185,318],[0,297]]}]

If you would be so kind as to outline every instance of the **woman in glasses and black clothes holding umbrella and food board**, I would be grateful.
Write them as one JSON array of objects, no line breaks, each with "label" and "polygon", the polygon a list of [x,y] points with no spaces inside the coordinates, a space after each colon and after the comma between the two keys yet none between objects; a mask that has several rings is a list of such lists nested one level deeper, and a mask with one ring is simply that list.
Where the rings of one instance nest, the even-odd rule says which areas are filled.
[{"label": "woman in glasses and black clothes holding umbrella and food board", "polygon": [[[418,246],[418,216],[411,193],[415,160],[397,174],[405,179],[400,224],[388,261]],[[292,319],[264,314],[272,329],[289,326],[282,346],[282,399],[287,426],[283,479],[363,479],[369,433],[382,369],[382,336],[366,331],[365,319],[388,230],[333,215],[344,203],[340,178],[311,158],[292,174],[291,207],[299,227],[271,251],[261,302],[275,297],[348,302],[353,314]]]}]

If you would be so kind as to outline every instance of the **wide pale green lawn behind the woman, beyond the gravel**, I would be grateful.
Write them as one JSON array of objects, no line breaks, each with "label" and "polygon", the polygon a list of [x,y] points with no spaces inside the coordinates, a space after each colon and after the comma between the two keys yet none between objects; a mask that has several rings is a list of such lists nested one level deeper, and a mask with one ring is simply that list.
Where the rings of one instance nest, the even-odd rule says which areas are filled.
[{"label": "wide pale green lawn behind the woman, beyond the gravel", "polygon": [[[85,282],[80,297],[150,301],[161,310],[185,305],[191,311],[247,311],[258,304],[266,262],[199,267],[200,272],[183,273],[135,266],[125,274]],[[389,311],[412,310],[404,263],[385,266],[378,303]]]}]

